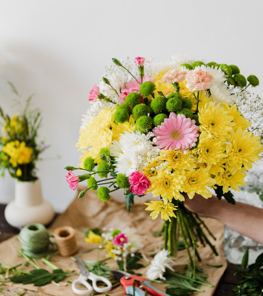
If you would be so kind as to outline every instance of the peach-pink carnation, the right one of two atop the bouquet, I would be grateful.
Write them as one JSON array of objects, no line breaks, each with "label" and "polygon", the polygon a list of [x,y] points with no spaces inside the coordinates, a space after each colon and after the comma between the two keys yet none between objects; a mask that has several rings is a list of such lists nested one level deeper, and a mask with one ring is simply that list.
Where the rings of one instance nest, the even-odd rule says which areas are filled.
[{"label": "peach-pink carnation, the right one of two atop the bouquet", "polygon": [[187,81],[186,87],[193,91],[204,91],[210,89],[210,83],[214,81],[214,76],[208,71],[202,70],[200,67],[189,71],[185,79]]}]

